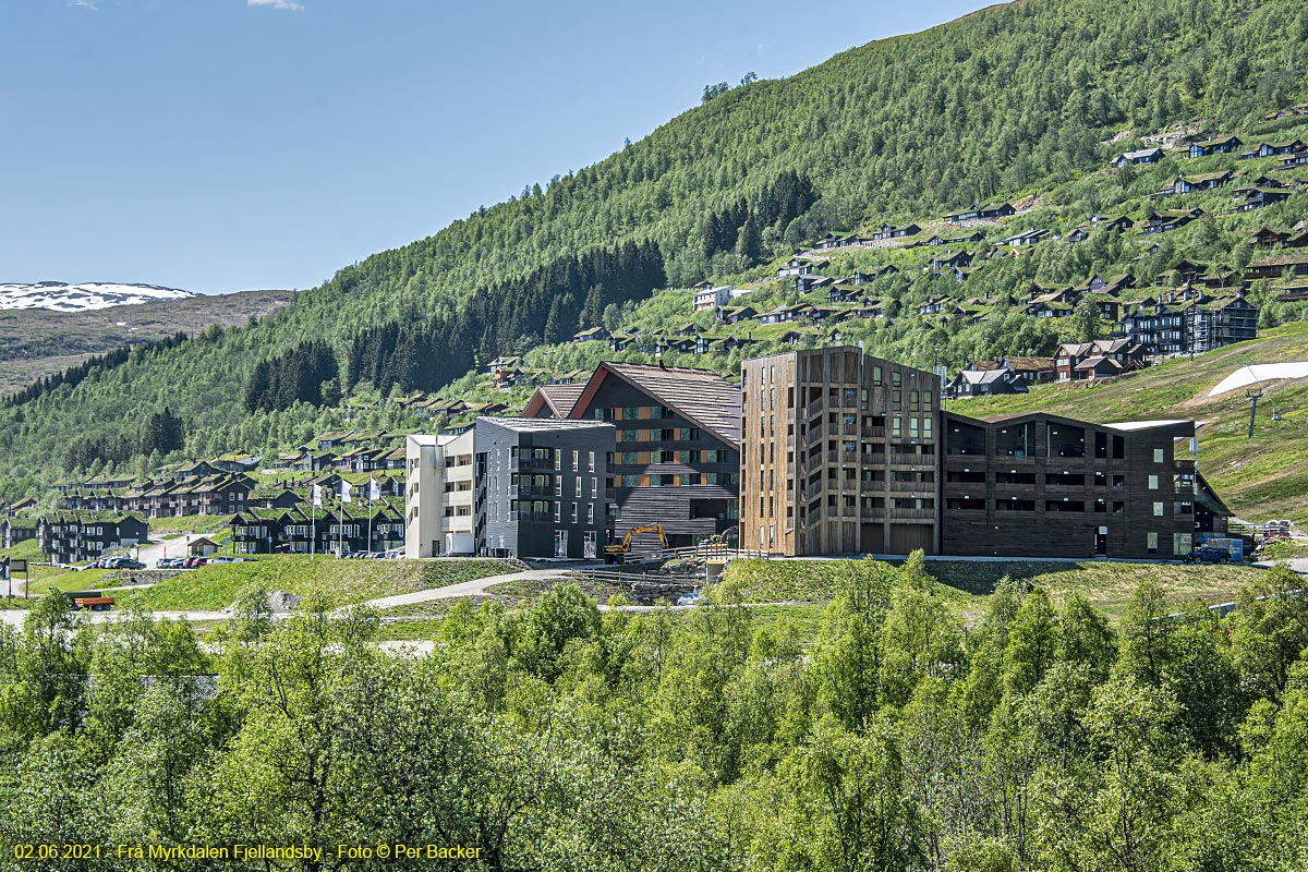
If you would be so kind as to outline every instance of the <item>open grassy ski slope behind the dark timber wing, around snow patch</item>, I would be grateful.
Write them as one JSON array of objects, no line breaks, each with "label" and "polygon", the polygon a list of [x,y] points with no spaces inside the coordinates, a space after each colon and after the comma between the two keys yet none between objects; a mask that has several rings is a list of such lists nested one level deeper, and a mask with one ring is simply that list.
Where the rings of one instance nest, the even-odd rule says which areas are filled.
[{"label": "open grassy ski slope behind the dark timber wing, around snow patch", "polygon": [[1189,358],[1176,358],[1137,375],[1099,384],[1048,384],[1027,395],[981,397],[950,411],[984,417],[1045,411],[1095,422],[1138,418],[1194,418],[1199,471],[1245,520],[1291,518],[1308,523],[1308,379],[1267,384],[1283,417],[1260,403],[1253,439],[1247,438],[1244,391],[1207,392],[1247,363],[1308,361],[1308,323],[1267,331],[1264,339]]}]

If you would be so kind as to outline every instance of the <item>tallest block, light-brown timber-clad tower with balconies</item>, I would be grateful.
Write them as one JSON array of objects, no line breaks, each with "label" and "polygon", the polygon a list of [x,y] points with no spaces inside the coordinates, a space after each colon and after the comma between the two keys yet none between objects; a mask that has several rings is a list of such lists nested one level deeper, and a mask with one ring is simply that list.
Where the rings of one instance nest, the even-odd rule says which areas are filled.
[{"label": "tallest block, light-brown timber-clad tower with balconies", "polygon": [[824,348],[746,361],[740,390],[743,548],[939,552],[935,375]]}]

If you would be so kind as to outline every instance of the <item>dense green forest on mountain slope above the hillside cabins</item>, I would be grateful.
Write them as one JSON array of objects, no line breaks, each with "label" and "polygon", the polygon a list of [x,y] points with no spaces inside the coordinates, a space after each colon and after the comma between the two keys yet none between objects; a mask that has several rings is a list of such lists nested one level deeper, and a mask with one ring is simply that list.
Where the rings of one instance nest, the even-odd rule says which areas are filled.
[{"label": "dense green forest on mountain slope above the hillside cabins", "polygon": [[0,409],[0,464],[129,461],[143,414],[164,405],[186,420],[191,455],[264,443],[305,411],[285,408],[290,396],[246,413],[251,375],[307,360],[310,341],[339,373],[300,399],[360,379],[436,388],[611,305],[744,275],[832,227],[1048,190],[1129,146],[1105,144],[1126,128],[1249,124],[1299,93],[1305,38],[1308,12],[1288,0],[1029,0],[751,82],[348,267],[258,324],[133,352]]}]

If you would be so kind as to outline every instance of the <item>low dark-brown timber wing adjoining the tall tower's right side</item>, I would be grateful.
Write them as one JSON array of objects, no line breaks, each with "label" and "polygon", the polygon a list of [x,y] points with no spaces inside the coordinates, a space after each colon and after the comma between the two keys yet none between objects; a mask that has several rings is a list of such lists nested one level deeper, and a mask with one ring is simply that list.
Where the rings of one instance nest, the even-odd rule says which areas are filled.
[{"label": "low dark-brown timber wing adjoining the tall tower's right side", "polygon": [[1044,413],[947,413],[942,549],[1184,557],[1197,531],[1192,437],[1193,421],[1092,425]]}]

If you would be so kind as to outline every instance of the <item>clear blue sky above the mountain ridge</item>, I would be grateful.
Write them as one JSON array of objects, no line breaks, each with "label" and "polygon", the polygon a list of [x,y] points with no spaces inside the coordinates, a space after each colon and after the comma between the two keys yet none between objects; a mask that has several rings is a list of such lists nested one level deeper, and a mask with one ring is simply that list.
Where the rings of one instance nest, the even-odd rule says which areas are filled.
[{"label": "clear blue sky above the mountain ridge", "polygon": [[980,0],[0,0],[0,282],[310,288]]}]

